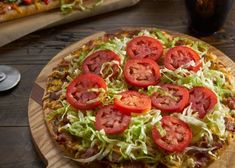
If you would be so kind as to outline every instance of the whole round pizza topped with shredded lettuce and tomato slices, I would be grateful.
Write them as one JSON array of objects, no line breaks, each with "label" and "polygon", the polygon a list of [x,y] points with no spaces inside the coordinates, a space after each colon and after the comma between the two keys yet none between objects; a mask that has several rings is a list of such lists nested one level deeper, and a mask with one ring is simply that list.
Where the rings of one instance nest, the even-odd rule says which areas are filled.
[{"label": "whole round pizza topped with shredded lettuce and tomato slices", "polygon": [[234,139],[234,77],[202,41],[120,31],[61,59],[43,110],[65,157],[84,167],[207,167]]}]

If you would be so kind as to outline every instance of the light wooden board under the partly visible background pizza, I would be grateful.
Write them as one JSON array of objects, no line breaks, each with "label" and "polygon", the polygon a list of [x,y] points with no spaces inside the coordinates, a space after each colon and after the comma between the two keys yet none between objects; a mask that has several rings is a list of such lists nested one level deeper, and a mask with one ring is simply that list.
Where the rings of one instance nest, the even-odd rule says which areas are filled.
[{"label": "light wooden board under the partly visible background pizza", "polygon": [[103,0],[103,3],[92,10],[73,11],[62,15],[59,9],[0,23],[0,47],[20,37],[43,28],[53,27],[79,19],[107,13],[133,6],[140,0]]}]

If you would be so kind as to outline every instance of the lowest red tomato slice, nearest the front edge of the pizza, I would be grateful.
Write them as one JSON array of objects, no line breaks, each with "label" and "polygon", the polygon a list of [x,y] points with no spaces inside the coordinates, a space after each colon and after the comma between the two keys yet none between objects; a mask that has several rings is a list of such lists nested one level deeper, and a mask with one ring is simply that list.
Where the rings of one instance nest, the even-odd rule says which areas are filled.
[{"label": "lowest red tomato slice, nearest the front edge of the pizza", "polygon": [[152,137],[158,147],[167,152],[182,152],[192,140],[192,131],[187,123],[172,117],[164,116],[161,119],[162,128],[166,134],[161,135],[156,126],[152,128]]}]

